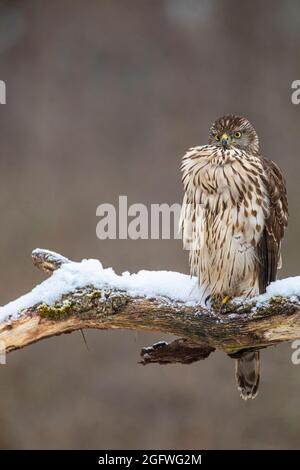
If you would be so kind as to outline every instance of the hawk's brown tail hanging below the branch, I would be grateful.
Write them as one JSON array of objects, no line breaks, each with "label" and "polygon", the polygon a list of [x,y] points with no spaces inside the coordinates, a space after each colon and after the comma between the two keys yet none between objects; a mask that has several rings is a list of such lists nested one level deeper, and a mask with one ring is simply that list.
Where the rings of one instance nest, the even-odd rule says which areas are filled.
[{"label": "hawk's brown tail hanging below the branch", "polygon": [[237,386],[244,400],[255,398],[260,377],[259,351],[243,353],[236,359],[235,376]]}]

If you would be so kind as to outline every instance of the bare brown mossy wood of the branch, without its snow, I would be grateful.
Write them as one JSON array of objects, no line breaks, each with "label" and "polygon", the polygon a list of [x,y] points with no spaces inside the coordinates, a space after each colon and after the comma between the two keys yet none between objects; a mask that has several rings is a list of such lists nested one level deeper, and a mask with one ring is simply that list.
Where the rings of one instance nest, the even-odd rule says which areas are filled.
[{"label": "bare brown mossy wood of the branch, without its snow", "polygon": [[[47,273],[71,263],[47,250],[34,250],[32,259]],[[300,302],[295,297],[273,297],[263,304],[256,300],[232,301],[209,310],[167,298],[133,297],[109,286],[99,289],[89,285],[65,293],[54,305],[32,305],[15,319],[5,320],[0,324],[0,341],[9,352],[43,338],[85,328],[172,333],[184,339],[144,348],[142,363],[189,364],[204,359],[215,349],[234,356],[240,351],[299,338]]]}]

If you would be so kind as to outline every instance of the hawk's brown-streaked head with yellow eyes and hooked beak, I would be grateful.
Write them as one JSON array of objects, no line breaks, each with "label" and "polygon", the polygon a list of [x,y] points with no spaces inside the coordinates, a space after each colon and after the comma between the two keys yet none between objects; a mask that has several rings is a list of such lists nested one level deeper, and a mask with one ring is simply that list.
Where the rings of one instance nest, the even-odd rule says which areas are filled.
[{"label": "hawk's brown-streaked head with yellow eyes and hooked beak", "polygon": [[235,147],[247,153],[259,152],[256,130],[245,118],[229,114],[217,119],[209,131],[209,143],[224,150]]}]

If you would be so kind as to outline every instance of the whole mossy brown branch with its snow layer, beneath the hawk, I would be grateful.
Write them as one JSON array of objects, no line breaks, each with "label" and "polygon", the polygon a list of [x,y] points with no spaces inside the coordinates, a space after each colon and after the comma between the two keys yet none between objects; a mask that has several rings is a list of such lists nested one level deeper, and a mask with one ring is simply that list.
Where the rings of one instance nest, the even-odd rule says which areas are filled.
[{"label": "whole mossy brown branch with its snow layer, beneath the hawk", "polygon": [[[117,275],[97,260],[72,262],[34,250],[50,277],[0,308],[0,341],[12,351],[79,329],[140,329],[182,337],[142,350],[142,363],[191,363],[215,349],[232,356],[300,338],[300,277],[273,283],[265,295],[208,309],[195,278],[168,271]],[[2,343],[3,344],[3,343]]]}]

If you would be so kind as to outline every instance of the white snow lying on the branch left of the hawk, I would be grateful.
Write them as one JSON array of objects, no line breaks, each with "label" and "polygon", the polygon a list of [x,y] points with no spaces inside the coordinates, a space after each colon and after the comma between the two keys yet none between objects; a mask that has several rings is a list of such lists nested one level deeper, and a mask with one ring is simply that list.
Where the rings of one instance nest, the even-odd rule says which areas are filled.
[{"label": "white snow lying on the branch left of the hawk", "polygon": [[[50,256],[52,254],[56,257],[55,253],[49,252]],[[143,270],[135,274],[124,272],[118,275],[112,268],[103,268],[98,260],[84,259],[78,263],[64,263],[31,292],[0,307],[0,323],[17,318],[22,310],[33,305],[53,305],[63,294],[88,285],[97,289],[109,287],[126,291],[132,297],[161,297],[187,305],[195,305],[201,297],[197,279],[186,274]]]}]

